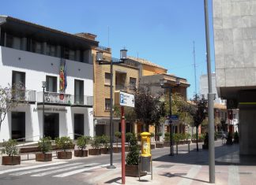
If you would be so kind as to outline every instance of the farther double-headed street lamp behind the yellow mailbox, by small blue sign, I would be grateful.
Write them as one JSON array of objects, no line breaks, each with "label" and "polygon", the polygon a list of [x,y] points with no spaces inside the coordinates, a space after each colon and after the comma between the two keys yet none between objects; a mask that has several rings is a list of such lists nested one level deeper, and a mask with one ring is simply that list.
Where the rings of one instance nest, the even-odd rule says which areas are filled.
[{"label": "farther double-headed street lamp behind the yellow mailbox, by small blue sign", "polygon": [[[170,86],[164,86],[164,83],[167,83],[167,80],[160,80],[160,86],[161,88],[164,88],[164,89],[168,89],[169,90],[169,119],[171,119],[171,85]],[[176,87],[180,85],[180,80],[179,79],[176,79],[175,81],[175,85]],[[173,145],[172,145],[172,124],[171,124],[172,120],[170,120],[169,122],[169,125],[170,125],[170,154],[169,156],[173,156]]]}]

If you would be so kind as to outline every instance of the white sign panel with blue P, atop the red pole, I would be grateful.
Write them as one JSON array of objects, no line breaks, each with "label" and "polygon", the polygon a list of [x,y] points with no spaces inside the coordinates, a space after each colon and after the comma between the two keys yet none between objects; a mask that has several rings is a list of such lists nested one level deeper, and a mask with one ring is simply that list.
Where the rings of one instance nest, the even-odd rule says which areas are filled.
[{"label": "white sign panel with blue P, atop the red pole", "polygon": [[134,94],[115,91],[115,104],[134,107]]}]

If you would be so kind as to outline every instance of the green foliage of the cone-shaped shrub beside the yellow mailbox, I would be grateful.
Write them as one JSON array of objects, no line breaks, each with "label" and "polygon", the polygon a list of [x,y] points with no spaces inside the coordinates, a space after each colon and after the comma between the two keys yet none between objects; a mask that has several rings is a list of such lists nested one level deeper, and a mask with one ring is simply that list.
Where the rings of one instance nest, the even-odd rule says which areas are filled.
[{"label": "green foliage of the cone-shaped shrub beside the yellow mailbox", "polygon": [[139,146],[137,145],[137,139],[133,136],[130,139],[129,153],[126,156],[127,165],[138,165],[139,159]]}]

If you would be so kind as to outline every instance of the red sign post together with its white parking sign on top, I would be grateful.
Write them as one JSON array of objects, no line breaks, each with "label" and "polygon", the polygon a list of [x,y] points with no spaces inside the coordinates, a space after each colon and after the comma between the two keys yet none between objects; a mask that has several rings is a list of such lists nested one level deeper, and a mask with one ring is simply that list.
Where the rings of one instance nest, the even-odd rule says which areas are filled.
[{"label": "red sign post together with its white parking sign on top", "polygon": [[115,104],[121,105],[121,140],[122,140],[122,184],[126,183],[126,153],[125,153],[125,116],[124,106],[134,107],[134,94],[122,91],[115,92]]}]

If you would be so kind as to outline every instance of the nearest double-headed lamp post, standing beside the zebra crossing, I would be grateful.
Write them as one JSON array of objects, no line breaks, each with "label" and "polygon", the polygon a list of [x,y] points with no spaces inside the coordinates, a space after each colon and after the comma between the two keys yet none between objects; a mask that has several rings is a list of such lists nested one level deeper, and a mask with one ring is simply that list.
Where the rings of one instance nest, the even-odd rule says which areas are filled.
[{"label": "nearest double-headed lamp post, standing beside the zebra crossing", "polygon": [[113,60],[111,58],[111,61],[106,61],[103,57],[103,52],[99,51],[96,52],[96,61],[99,62],[99,65],[110,65],[111,66],[111,91],[110,91],[110,99],[111,99],[111,105],[110,105],[110,165],[107,166],[107,168],[115,168],[113,165],[113,140],[114,140],[114,125],[113,125],[113,65],[119,65],[123,64],[124,61],[127,60],[127,50],[123,49],[120,50],[120,59],[119,60]]}]

